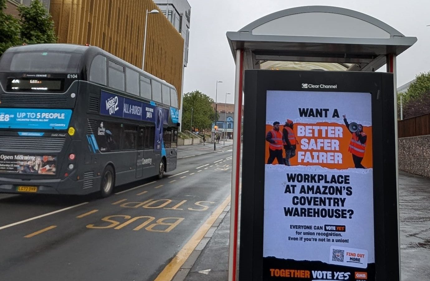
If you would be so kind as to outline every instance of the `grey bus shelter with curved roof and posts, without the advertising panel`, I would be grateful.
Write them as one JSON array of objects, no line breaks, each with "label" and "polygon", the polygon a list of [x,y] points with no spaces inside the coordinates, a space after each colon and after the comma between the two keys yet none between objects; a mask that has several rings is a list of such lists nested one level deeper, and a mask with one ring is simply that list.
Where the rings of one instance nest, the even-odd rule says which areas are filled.
[{"label": "grey bus shelter with curved roof and posts, without the advertising panel", "polygon": [[[231,281],[237,280],[244,70],[374,72],[386,65],[386,71],[394,74],[393,95],[396,103],[396,56],[411,47],[417,38],[407,37],[390,25],[361,12],[332,6],[303,6],[274,12],[249,23],[239,31],[229,31],[226,35],[236,63],[235,112],[237,112],[234,115],[233,131],[236,135],[233,137],[230,209]],[[244,116],[246,117],[246,112]],[[396,120],[397,116],[394,118]],[[397,127],[395,130],[397,138]]]}]

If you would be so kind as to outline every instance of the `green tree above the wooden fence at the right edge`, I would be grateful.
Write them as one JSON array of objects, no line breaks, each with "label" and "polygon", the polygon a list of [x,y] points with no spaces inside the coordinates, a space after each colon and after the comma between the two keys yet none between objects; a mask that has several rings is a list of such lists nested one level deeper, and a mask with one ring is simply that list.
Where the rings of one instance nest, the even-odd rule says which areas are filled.
[{"label": "green tree above the wooden fence at the right edge", "polygon": [[[397,109],[400,109],[400,98],[403,103],[403,118],[430,112],[430,72],[420,73],[409,86],[408,91],[397,95]],[[400,115],[399,115],[400,116]]]}]

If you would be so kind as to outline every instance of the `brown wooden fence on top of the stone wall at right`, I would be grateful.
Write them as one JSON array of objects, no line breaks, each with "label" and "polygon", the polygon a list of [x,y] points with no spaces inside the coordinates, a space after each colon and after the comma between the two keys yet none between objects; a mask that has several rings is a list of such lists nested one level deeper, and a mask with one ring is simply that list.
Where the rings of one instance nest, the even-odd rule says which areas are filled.
[{"label": "brown wooden fence on top of the stone wall at right", "polygon": [[430,113],[400,120],[399,137],[415,137],[430,134]]}]

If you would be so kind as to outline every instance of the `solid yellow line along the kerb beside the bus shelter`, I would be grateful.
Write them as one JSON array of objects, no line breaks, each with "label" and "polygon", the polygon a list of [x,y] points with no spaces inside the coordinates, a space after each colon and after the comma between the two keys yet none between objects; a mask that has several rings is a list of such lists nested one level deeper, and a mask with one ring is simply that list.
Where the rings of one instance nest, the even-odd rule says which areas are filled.
[{"label": "solid yellow line along the kerb beside the bus shelter", "polygon": [[193,250],[197,247],[200,241],[205,236],[206,232],[214,224],[215,220],[221,215],[221,212],[230,203],[230,196],[228,196],[224,202],[218,206],[218,208],[212,213],[209,219],[197,230],[193,237],[188,240],[187,244],[178,252],[178,254],[169,262],[163,271],[155,278],[154,281],[170,281],[175,277],[176,272],[181,268],[184,262],[188,259]]}]

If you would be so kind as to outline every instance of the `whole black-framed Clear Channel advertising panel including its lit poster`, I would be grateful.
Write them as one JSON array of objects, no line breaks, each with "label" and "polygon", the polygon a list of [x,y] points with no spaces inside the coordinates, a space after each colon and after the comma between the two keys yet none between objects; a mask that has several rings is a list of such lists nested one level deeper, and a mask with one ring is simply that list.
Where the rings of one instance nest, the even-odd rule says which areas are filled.
[{"label": "whole black-framed Clear Channel advertising panel including its lit poster", "polygon": [[239,281],[399,281],[393,75],[244,72]]}]

